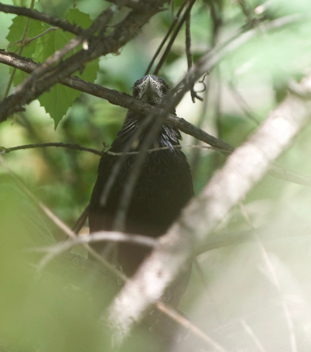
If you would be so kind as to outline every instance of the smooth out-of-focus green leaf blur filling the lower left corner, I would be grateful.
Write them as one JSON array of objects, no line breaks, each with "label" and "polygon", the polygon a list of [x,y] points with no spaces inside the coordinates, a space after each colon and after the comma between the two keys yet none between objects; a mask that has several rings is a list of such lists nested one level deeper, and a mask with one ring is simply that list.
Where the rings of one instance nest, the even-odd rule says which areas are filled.
[{"label": "smooth out-of-focus green leaf blur filling the lower left corner", "polygon": [[117,280],[99,279],[97,267],[72,280],[70,261],[57,258],[38,270],[42,254],[29,250],[55,243],[45,217],[7,175],[0,175],[0,199],[1,344],[12,351],[107,350],[98,318]]}]

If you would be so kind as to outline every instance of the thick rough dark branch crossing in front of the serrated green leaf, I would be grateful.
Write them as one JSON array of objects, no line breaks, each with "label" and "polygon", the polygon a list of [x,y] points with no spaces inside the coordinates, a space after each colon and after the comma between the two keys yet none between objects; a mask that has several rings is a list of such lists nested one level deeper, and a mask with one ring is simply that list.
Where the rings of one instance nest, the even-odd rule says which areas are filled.
[{"label": "thick rough dark branch crossing in front of the serrated green leaf", "polygon": [[[127,14],[108,36],[88,38],[87,48],[71,55],[54,68],[49,67],[46,62],[38,66],[29,77],[15,88],[10,96],[0,103],[0,121],[6,120],[7,116],[13,112],[20,111],[23,105],[38,98],[51,86],[81,69],[87,62],[102,55],[118,52],[124,44],[136,36],[151,17],[162,10],[166,2],[165,0],[140,0],[138,1],[140,9]],[[112,8],[110,10],[115,11]]]}]

